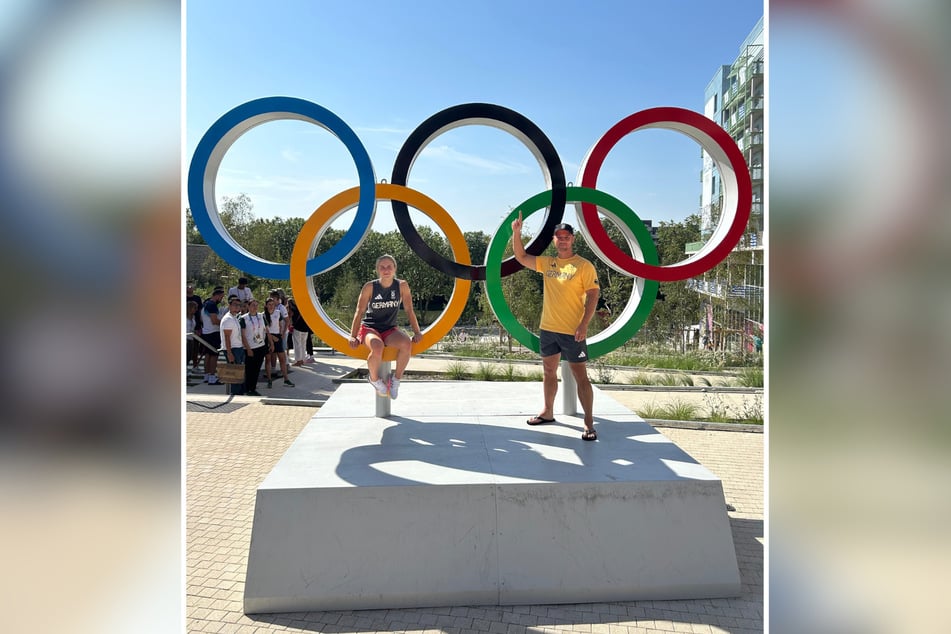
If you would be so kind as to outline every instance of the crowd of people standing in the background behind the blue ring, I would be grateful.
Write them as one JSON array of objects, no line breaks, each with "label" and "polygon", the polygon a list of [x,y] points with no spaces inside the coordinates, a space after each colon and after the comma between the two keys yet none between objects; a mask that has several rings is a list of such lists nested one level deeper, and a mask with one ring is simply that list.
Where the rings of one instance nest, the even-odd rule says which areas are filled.
[{"label": "crowd of people standing in the background behind the blue ring", "polygon": [[314,344],[294,299],[275,288],[262,307],[248,279],[240,277],[222,300],[223,286],[216,286],[204,300],[192,284],[185,287],[186,364],[191,371],[202,371],[202,380],[209,385],[221,385],[218,362],[223,353],[229,364],[244,366],[244,381],[232,383],[231,394],[261,396],[257,388],[262,367],[267,387],[273,387],[276,378],[295,387],[288,377],[288,350],[294,353],[293,365],[302,366],[314,363]]}]

